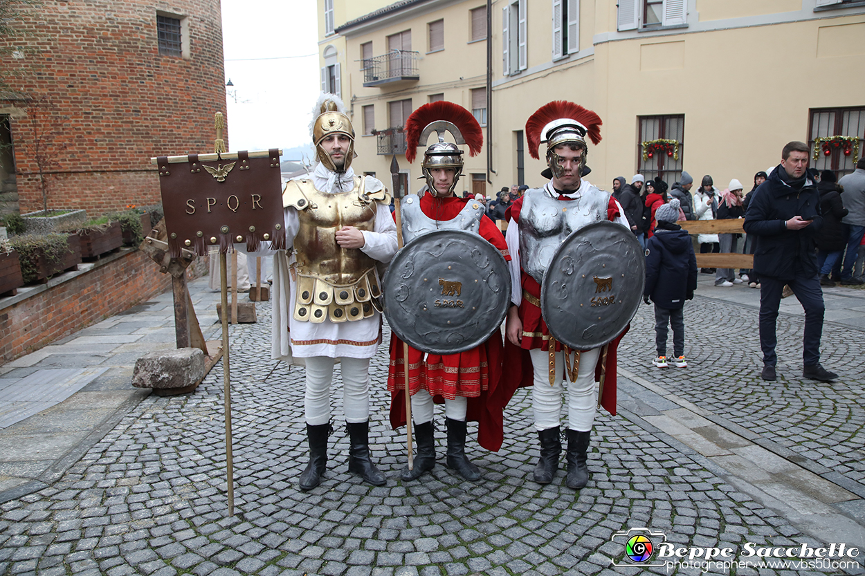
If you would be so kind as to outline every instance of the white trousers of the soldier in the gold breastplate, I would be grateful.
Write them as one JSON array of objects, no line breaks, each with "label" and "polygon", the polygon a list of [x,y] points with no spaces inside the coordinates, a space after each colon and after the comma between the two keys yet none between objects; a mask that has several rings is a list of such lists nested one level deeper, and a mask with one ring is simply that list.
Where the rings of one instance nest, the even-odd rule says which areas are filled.
[{"label": "white trousers of the soldier in the gold breastplate", "polygon": [[[330,382],[335,360],[328,356],[311,356],[306,362],[306,423],[319,426],[330,422]],[[369,359],[340,358],[343,367],[343,411],[346,422],[369,419]]]}]

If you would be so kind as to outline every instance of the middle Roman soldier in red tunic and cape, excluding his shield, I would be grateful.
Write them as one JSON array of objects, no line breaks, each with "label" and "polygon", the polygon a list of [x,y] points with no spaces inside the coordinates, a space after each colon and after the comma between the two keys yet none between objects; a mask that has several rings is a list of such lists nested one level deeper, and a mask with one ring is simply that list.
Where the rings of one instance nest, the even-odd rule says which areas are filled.
[{"label": "middle Roman soldier in red tunic and cape, excluding his shield", "polygon": [[[412,113],[406,122],[406,158],[413,162],[419,144],[426,144],[426,138],[438,132],[436,142],[426,148],[421,167],[426,180],[426,191],[422,195],[407,195],[401,202],[401,227],[407,250],[412,240],[437,230],[461,230],[476,234],[487,240],[486,245],[493,255],[498,250],[509,259],[508,246],[502,232],[484,212],[485,207],[474,199],[459,198],[454,190],[463,172],[463,150],[456,144],[445,142],[445,131],[452,132],[456,142],[468,144],[472,156],[481,150],[484,143],[483,132],[477,120],[462,106],[451,102],[439,101],[421,106]],[[419,142],[420,139],[420,142]],[[479,240],[480,241],[480,240]],[[465,243],[456,243],[461,255],[471,250]],[[399,258],[399,257],[398,257]],[[450,263],[448,253],[440,259]],[[420,267],[420,264],[414,266]],[[450,268],[451,266],[447,266]],[[457,266],[454,265],[456,268]],[[477,272],[480,272],[477,270]],[[388,276],[394,269],[388,272]],[[432,274],[433,276],[435,274]],[[494,323],[500,325],[507,306],[508,278],[507,269],[502,262],[502,315]],[[480,273],[478,278],[482,278]],[[390,281],[388,278],[386,281]],[[467,280],[463,278],[461,285]],[[471,280],[477,282],[477,279]],[[445,294],[445,279],[439,280]],[[463,291],[469,290],[468,287]],[[388,295],[390,294],[388,284]],[[466,294],[463,294],[465,298]],[[437,301],[438,304],[438,301]],[[386,310],[390,314],[391,310]],[[462,317],[467,318],[464,314]],[[388,319],[391,319],[388,316]],[[391,319],[394,325],[393,319]],[[459,331],[458,325],[449,330]],[[434,329],[427,329],[434,330]],[[395,330],[394,330],[395,331]],[[414,438],[417,442],[417,455],[413,469],[403,468],[400,477],[404,481],[414,480],[435,466],[436,453],[433,441],[433,404],[444,400],[445,425],[447,428],[448,468],[456,470],[466,480],[477,480],[480,470],[465,456],[466,419],[479,422],[478,440],[485,448],[497,451],[502,445],[502,409],[506,402],[493,400],[502,374],[502,336],[499,330],[491,330],[492,336],[484,334],[485,341],[471,349],[455,354],[425,353],[408,347],[408,362],[403,355],[403,342],[394,334],[390,344],[390,368],[388,371],[388,390],[391,398],[391,424],[394,428],[406,424],[405,410],[405,369],[408,364],[408,387],[411,397]]]}]

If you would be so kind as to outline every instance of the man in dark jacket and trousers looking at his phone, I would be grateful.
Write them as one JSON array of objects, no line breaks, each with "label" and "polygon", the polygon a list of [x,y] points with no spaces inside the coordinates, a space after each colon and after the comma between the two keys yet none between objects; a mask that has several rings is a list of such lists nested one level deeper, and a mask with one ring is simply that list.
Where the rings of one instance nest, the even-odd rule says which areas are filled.
[{"label": "man in dark jacket and trousers looking at his phone", "polygon": [[805,378],[832,381],[837,374],[820,365],[823,334],[823,291],[817,277],[814,236],[823,226],[817,187],[806,172],[810,150],[790,142],[781,163],[753,193],[745,214],[745,232],[757,237],[754,271],[760,278],[759,343],[763,380],[776,378],[778,356],[775,321],[784,285],[789,285],[805,311],[803,360]]}]

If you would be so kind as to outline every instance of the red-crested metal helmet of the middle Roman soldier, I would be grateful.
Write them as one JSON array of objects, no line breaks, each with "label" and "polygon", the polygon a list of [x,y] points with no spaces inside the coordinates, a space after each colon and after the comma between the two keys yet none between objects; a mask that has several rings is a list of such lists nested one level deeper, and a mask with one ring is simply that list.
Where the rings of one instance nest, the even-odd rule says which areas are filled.
[{"label": "red-crested metal helmet of the middle Roman soldier", "polygon": [[[430,144],[424,150],[424,159],[420,163],[426,179],[426,188],[433,196],[449,196],[457,188],[459,177],[463,175],[463,150],[457,144],[468,144],[469,155],[476,156],[484,145],[484,131],[477,124],[477,119],[462,106],[439,100],[420,106],[406,120],[406,159],[414,161],[420,143],[426,144],[432,132],[438,136],[437,142]],[[454,143],[445,142],[445,132],[451,132]],[[453,182],[447,193],[441,193],[435,188],[432,170],[436,168],[453,169]]]}]

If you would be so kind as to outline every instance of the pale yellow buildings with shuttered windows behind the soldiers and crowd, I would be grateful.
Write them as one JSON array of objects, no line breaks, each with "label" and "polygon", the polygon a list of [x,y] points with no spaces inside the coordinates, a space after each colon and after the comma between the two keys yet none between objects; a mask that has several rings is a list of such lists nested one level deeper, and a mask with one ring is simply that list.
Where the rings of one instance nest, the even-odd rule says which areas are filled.
[{"label": "pale yellow buildings with shuttered windows behind the soldiers and crowd", "polygon": [[[811,166],[853,170],[865,153],[865,2],[860,0],[317,0],[322,87],[354,122],[357,171],[416,191],[402,123],[433,99],[473,112],[484,150],[467,190],[538,186],[525,149],[535,110],[567,99],[598,112],[588,180],[687,170],[726,188],[779,163],[790,140]],[[542,157],[542,154],[541,154]]]}]

